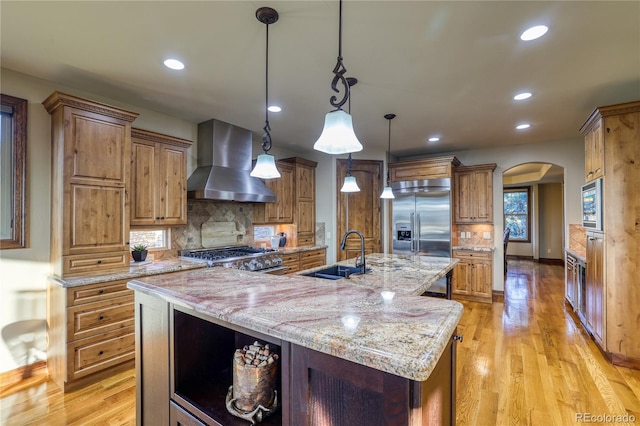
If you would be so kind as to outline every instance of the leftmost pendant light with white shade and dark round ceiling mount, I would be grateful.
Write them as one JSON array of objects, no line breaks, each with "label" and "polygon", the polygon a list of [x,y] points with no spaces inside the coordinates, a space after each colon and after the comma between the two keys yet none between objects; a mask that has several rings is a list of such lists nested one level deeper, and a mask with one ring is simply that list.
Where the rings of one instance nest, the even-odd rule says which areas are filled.
[{"label": "leftmost pendant light with white shade and dark round ceiling mount", "polygon": [[269,125],[269,25],[278,21],[278,12],[270,7],[261,7],[256,10],[256,18],[265,24],[267,28],[267,42],[265,49],[265,119],[264,134],[262,135],[262,151],[263,154],[258,155],[256,166],[251,171],[251,176],[261,179],[274,179],[280,177],[280,172],[276,167],[275,158],[269,155],[271,149],[271,126]]}]

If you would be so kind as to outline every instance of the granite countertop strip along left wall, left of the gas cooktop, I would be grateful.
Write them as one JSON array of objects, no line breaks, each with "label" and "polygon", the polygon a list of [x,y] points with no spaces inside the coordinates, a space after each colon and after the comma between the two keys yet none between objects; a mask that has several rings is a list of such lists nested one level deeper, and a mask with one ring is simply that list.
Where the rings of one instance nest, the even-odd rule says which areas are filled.
[{"label": "granite countertop strip along left wall, left of the gas cooktop", "polygon": [[97,284],[109,281],[118,281],[144,277],[148,275],[167,274],[169,272],[186,271],[189,269],[204,268],[207,264],[200,261],[191,261],[184,259],[167,259],[158,260],[144,265],[133,265],[129,270],[110,272],[101,275],[91,275],[83,277],[61,278],[58,276],[49,277],[50,280],[57,282],[62,287],[77,287],[87,284]]}]

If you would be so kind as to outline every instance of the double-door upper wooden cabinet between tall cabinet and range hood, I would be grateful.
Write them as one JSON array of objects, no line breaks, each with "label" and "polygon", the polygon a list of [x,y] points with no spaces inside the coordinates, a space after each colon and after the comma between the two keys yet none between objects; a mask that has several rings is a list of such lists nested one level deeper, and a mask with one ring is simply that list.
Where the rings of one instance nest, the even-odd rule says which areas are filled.
[{"label": "double-door upper wooden cabinet between tall cabinet and range hood", "polygon": [[186,225],[191,141],[140,129],[131,141],[131,225]]}]

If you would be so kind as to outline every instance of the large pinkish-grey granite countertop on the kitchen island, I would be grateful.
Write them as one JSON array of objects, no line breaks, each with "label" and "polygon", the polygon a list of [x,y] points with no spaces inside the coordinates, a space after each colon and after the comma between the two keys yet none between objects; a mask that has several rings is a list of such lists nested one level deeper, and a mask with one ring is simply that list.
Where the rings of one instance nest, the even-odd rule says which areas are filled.
[{"label": "large pinkish-grey granite countertop on the kitchen island", "polygon": [[[135,279],[128,287],[309,349],[426,380],[463,307],[416,294],[457,259],[383,254],[366,259],[369,274],[336,281],[207,268]],[[384,302],[382,289],[395,291],[395,297]],[[343,325],[349,317],[360,319],[353,330]]]}]

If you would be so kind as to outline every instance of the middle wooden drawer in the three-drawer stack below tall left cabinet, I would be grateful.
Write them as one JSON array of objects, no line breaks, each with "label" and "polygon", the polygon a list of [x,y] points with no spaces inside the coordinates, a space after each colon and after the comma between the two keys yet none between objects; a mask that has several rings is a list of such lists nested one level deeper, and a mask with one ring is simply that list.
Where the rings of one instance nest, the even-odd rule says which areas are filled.
[{"label": "middle wooden drawer in the three-drawer stack below tall left cabinet", "polygon": [[133,294],[67,308],[67,341],[134,324]]}]

